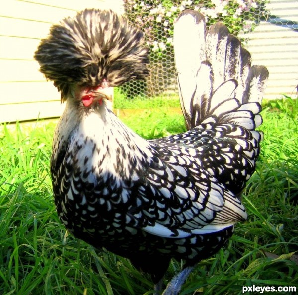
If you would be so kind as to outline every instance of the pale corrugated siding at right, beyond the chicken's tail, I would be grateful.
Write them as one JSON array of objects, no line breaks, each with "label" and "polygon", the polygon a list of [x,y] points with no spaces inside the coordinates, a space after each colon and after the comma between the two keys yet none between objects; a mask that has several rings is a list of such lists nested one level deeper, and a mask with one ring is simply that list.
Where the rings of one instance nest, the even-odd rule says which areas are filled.
[{"label": "pale corrugated siding at right, beyond the chicken's tail", "polygon": [[[261,21],[255,31],[244,35],[253,64],[269,70],[265,99],[296,97],[298,84],[298,0],[271,0],[271,18]],[[276,16],[277,18],[275,18]]]}]

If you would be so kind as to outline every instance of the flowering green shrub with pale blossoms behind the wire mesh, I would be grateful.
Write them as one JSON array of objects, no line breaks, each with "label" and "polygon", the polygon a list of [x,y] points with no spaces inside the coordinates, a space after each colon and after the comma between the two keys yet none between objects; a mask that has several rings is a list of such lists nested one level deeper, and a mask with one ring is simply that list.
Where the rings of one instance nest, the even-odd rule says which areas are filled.
[{"label": "flowering green shrub with pale blossoms behind the wire mesh", "polygon": [[[230,32],[250,32],[264,18],[267,0],[124,0],[128,20],[145,36],[150,49],[150,74],[145,81],[132,81],[121,87],[128,97],[152,97],[178,92],[173,52],[174,22],[185,9],[199,10],[207,26],[221,21]],[[187,33],[187,32],[186,32]]]}]

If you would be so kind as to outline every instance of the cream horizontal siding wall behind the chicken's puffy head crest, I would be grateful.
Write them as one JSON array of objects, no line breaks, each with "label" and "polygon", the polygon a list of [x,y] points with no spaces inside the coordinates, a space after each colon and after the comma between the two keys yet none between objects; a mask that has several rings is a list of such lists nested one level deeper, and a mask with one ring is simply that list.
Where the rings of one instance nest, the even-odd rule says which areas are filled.
[{"label": "cream horizontal siding wall behind the chicken's puffy head crest", "polygon": [[0,122],[60,116],[63,105],[33,59],[53,23],[85,8],[123,13],[122,0],[2,0],[0,8]]}]

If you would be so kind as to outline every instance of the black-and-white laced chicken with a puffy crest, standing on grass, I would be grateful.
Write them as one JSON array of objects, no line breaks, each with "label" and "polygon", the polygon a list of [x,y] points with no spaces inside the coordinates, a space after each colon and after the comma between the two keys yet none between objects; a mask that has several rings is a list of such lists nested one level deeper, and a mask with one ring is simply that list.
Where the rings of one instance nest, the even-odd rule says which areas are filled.
[{"label": "black-and-white laced chicken with a puffy crest, standing on grass", "polygon": [[58,215],[76,238],[130,259],[154,294],[172,258],[184,268],[217,253],[246,219],[239,195],[255,170],[268,71],[223,24],[205,29],[185,10],[174,26],[181,108],[188,131],[145,140],[108,107],[110,87],[148,74],[143,35],[112,11],[87,9],[53,25],[35,53],[66,102],[51,176]]}]

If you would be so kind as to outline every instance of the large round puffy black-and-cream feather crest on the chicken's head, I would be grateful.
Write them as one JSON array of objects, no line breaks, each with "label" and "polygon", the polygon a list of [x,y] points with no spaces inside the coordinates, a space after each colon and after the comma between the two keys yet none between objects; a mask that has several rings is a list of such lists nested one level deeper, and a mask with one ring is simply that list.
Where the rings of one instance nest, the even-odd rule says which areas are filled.
[{"label": "large round puffy black-and-cream feather crest on the chicken's head", "polygon": [[63,97],[71,83],[119,86],[148,74],[142,32],[111,10],[86,9],[53,25],[34,58]]}]

